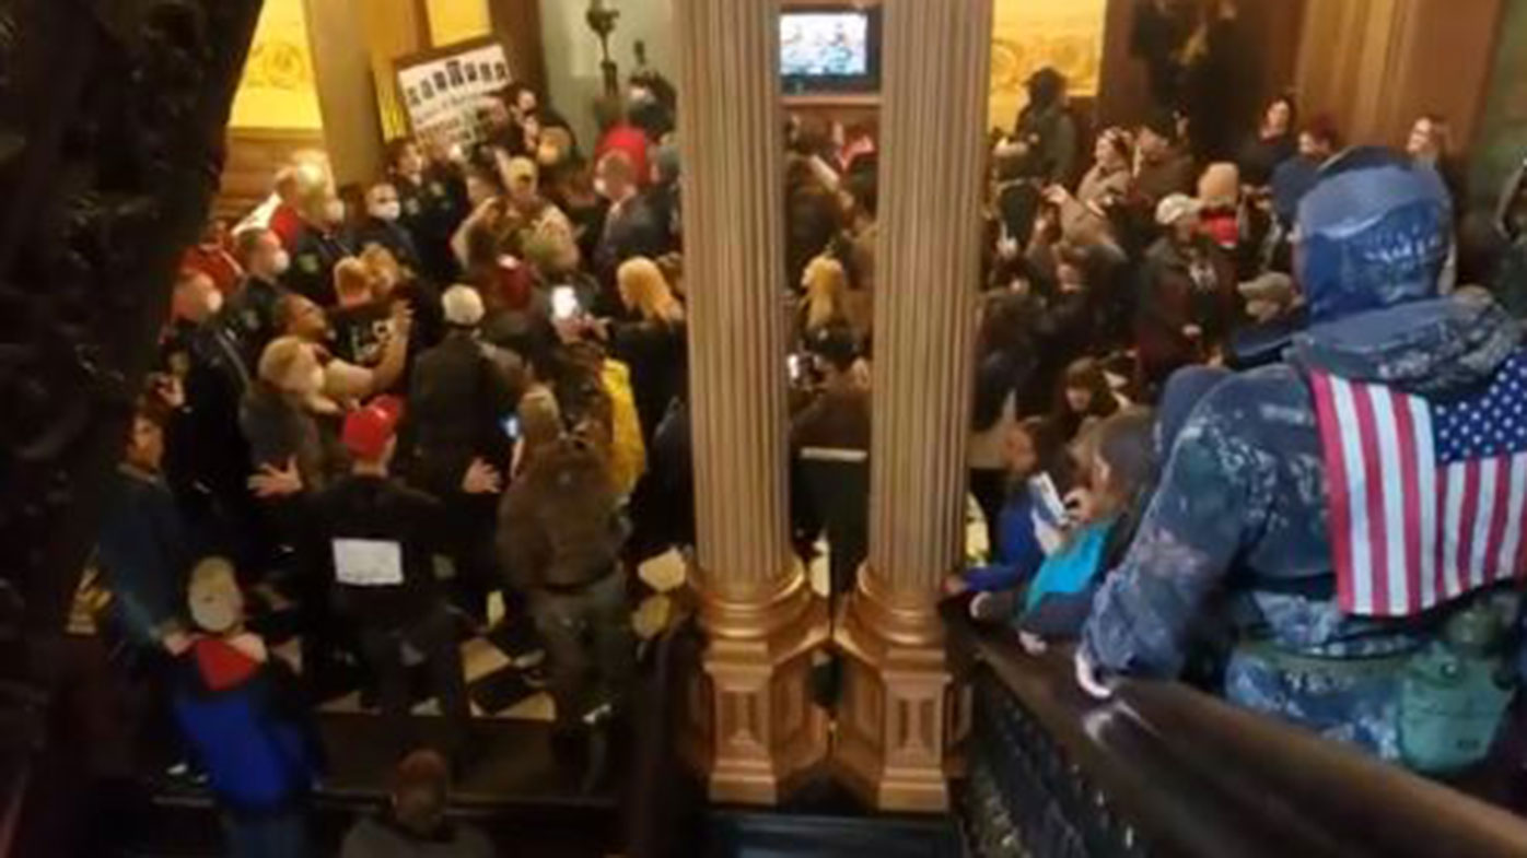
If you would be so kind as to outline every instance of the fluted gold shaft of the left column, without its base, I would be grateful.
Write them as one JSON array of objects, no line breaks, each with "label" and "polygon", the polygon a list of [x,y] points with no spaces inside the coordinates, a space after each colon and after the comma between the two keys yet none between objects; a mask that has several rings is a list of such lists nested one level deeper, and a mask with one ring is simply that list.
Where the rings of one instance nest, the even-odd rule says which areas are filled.
[{"label": "fluted gold shaft of the left column, without its base", "polygon": [[794,563],[786,492],[777,0],[680,0],[680,147],[699,576],[725,602]]}]

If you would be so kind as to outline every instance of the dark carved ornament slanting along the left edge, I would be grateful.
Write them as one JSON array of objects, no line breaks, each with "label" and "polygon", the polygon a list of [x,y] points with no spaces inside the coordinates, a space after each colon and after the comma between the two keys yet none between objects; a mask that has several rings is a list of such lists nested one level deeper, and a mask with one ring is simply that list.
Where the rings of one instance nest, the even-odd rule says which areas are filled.
[{"label": "dark carved ornament slanting along the left edge", "polygon": [[55,644],[258,12],[0,0],[0,797],[46,740]]}]

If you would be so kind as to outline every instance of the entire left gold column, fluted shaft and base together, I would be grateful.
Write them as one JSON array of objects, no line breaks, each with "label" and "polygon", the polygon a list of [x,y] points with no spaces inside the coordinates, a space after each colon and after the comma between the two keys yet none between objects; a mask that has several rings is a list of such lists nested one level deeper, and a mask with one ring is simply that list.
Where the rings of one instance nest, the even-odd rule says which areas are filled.
[{"label": "entire left gold column, fluted shaft and base together", "polygon": [[709,637],[690,753],[710,795],[774,803],[826,756],[826,617],[789,550],[777,0],[680,0],[690,424]]}]

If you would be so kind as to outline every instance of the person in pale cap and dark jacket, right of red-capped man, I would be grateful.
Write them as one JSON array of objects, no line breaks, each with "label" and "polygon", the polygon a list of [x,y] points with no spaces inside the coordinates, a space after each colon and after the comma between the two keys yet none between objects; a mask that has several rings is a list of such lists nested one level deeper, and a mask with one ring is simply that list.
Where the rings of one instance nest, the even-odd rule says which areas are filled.
[{"label": "person in pale cap and dark jacket, right of red-capped man", "polygon": [[455,565],[455,598],[478,621],[487,620],[495,589],[492,560],[495,502],[463,490],[473,463],[505,470],[518,402],[518,360],[481,337],[483,298],[454,285],[441,298],[446,337],[414,365],[409,391],[412,479],[446,508],[446,554]]}]

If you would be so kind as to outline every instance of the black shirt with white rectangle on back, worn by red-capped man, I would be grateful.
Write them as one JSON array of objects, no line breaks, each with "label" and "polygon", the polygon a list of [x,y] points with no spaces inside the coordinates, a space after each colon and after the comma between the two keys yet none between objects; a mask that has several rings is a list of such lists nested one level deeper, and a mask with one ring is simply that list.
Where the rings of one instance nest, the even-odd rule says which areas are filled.
[{"label": "black shirt with white rectangle on back, worn by red-capped man", "polygon": [[351,475],[319,493],[315,508],[341,608],[356,621],[400,627],[434,606],[434,496],[397,479]]}]

